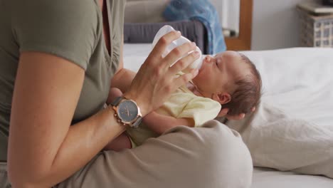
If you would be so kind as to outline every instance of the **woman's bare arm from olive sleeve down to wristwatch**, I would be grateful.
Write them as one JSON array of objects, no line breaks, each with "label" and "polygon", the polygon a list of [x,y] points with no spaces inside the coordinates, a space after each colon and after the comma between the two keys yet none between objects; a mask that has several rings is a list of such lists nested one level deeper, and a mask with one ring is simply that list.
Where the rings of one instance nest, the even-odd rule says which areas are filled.
[{"label": "woman's bare arm from olive sleeve down to wristwatch", "polygon": [[14,187],[51,187],[120,135],[113,110],[70,126],[84,70],[46,53],[22,53],[11,110],[9,177]]}]

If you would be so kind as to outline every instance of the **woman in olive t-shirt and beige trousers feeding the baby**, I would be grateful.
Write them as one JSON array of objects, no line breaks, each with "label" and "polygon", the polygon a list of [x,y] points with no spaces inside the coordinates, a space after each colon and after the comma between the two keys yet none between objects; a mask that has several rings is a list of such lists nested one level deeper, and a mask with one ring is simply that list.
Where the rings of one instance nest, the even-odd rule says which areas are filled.
[{"label": "woman in olive t-shirt and beige trousers feeding the baby", "polygon": [[[249,187],[250,154],[216,121],[100,152],[129,126],[112,106],[102,109],[111,82],[121,88],[132,80],[122,68],[124,7],[122,0],[0,1],[1,186]],[[198,72],[174,78],[195,53],[169,68],[194,44],[162,58],[179,36],[159,41],[124,95],[142,117]]]}]

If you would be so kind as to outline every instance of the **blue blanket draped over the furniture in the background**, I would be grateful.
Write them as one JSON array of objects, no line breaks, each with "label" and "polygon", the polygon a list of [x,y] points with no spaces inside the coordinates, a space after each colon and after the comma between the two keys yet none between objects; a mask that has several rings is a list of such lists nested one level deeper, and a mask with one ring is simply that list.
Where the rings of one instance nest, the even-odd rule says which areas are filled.
[{"label": "blue blanket draped over the furniture in the background", "polygon": [[208,54],[226,51],[226,42],[215,7],[208,0],[171,0],[163,12],[168,21],[196,19],[207,29]]}]

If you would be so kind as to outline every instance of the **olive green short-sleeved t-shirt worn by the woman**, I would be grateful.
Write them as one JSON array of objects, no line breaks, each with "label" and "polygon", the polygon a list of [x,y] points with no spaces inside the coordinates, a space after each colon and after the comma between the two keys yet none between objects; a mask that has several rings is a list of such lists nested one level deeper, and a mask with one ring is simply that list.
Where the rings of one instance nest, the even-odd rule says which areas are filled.
[{"label": "olive green short-sleeved t-shirt worn by the woman", "polygon": [[21,52],[51,53],[85,70],[73,122],[102,108],[120,60],[125,1],[107,0],[107,9],[110,55],[98,0],[0,0],[0,161],[6,161],[11,100]]}]

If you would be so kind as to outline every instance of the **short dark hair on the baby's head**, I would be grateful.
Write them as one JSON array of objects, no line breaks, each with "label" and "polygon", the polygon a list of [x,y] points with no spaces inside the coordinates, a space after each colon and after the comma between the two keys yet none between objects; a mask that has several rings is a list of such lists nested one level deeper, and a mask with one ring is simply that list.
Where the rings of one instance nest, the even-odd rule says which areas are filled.
[{"label": "short dark hair on the baby's head", "polygon": [[228,108],[228,115],[250,113],[253,107],[257,107],[261,97],[261,77],[257,68],[250,59],[239,53],[242,60],[250,66],[250,75],[246,75],[235,81],[236,90],[231,95],[231,101],[223,104],[222,108]]}]

